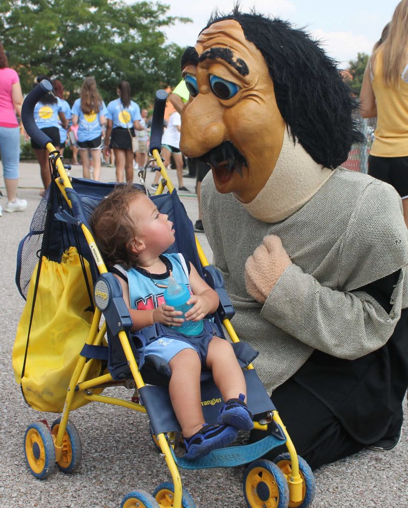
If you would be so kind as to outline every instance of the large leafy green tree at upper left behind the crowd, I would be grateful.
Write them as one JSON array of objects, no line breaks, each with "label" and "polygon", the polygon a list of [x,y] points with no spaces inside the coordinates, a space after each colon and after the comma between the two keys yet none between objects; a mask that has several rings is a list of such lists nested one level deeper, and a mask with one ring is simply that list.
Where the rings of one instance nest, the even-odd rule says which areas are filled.
[{"label": "large leafy green tree at upper left behind the crowd", "polygon": [[180,79],[183,48],[166,44],[162,29],[188,18],[168,16],[161,3],[120,0],[0,0],[0,40],[27,92],[33,78],[59,79],[72,103],[93,76],[105,101],[120,80],[132,97],[151,102],[158,88]]}]

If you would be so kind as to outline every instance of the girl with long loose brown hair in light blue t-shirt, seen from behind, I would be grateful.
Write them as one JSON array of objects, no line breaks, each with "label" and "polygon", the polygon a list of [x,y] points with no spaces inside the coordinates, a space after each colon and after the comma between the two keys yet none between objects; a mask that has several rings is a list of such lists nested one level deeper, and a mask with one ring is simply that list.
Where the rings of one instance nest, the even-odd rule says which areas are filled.
[{"label": "girl with long loose brown hair in light blue t-shirt, seen from behind", "polygon": [[81,97],[72,107],[72,123],[78,124],[78,147],[81,150],[81,161],[84,178],[91,178],[89,150],[92,157],[93,179],[100,176],[100,149],[102,146],[102,125],[106,123],[106,109],[96,88],[94,78],[85,78]]}]

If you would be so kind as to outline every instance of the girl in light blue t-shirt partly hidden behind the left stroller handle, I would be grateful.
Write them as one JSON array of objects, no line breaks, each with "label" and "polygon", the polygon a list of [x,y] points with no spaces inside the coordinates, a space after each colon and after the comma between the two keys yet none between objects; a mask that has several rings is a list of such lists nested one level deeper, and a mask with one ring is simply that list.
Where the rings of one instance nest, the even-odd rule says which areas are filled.
[{"label": "girl in light blue t-shirt partly hidden behind the left stroller handle", "polygon": [[[34,86],[37,86],[43,79],[50,81],[48,76],[37,76],[34,80]],[[61,120],[62,125],[66,126],[67,120],[62,109],[61,100],[55,97],[54,90],[52,90],[52,92],[46,93],[41,98],[41,102],[36,104],[34,108],[34,121],[37,123],[38,128],[51,139],[51,143],[57,150],[59,150],[60,143],[59,120]],[[46,148],[38,145],[33,140],[31,140],[31,146],[40,164],[41,179],[44,185],[44,189],[41,190],[40,195],[43,196],[45,190],[51,183],[51,174],[48,166],[49,152]]]}]

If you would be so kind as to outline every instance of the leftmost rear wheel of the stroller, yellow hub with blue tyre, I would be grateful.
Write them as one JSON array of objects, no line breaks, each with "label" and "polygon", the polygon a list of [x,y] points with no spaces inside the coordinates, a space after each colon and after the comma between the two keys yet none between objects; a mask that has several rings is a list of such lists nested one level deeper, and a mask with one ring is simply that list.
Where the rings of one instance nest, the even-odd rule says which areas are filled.
[{"label": "leftmost rear wheel of the stroller, yellow hub with blue tyre", "polygon": [[40,480],[48,478],[55,467],[55,448],[50,429],[34,422],[24,435],[24,454],[31,474]]}]

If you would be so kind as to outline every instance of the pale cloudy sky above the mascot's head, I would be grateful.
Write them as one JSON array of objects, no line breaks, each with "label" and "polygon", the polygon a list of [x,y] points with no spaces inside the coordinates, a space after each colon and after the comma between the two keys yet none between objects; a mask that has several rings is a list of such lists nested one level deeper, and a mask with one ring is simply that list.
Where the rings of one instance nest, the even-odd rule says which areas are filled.
[{"label": "pale cloudy sky above the mascot's head", "polygon": [[[168,14],[183,16],[192,23],[176,25],[165,30],[168,42],[180,46],[194,46],[200,30],[206,26],[212,11],[218,7],[228,13],[233,0],[164,0]],[[371,54],[372,46],[380,39],[384,25],[391,20],[397,0],[242,0],[243,12],[252,7],[261,13],[290,21],[297,28],[305,27],[329,56],[339,62],[339,69],[347,69],[349,60],[357,53]]]}]

